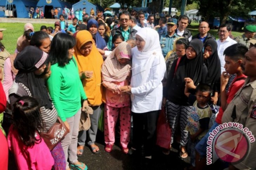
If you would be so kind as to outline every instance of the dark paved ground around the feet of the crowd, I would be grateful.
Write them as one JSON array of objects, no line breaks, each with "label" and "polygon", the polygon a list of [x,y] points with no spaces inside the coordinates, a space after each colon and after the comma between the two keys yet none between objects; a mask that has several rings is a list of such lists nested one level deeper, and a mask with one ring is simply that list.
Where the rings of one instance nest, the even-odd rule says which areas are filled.
[{"label": "dark paved ground around the feet of the crowd", "polygon": [[[119,138],[116,143],[119,143]],[[178,157],[178,152],[173,149],[170,155],[163,155],[159,148],[154,148],[152,161],[148,166],[143,164],[141,156],[131,156],[123,154],[119,145],[114,145],[111,153],[104,150],[103,134],[97,134],[96,145],[99,146],[101,152],[93,154],[86,146],[83,155],[79,157],[79,161],[84,162],[88,170],[183,170],[186,167],[189,158],[182,160]],[[15,161],[12,156],[9,157],[9,170],[16,170]]]}]

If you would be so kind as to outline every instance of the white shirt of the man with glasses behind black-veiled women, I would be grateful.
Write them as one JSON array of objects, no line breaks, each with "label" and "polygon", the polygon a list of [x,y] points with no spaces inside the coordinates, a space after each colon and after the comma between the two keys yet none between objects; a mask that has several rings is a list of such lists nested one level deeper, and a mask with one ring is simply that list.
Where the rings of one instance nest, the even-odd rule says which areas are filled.
[{"label": "white shirt of the man with glasses behind black-veiled women", "polygon": [[230,45],[236,44],[237,42],[230,37],[228,37],[226,40],[221,42],[220,39],[216,40],[217,42],[217,51],[218,51],[218,56],[221,61],[221,73],[225,71],[224,65],[225,65],[225,56],[223,55],[224,50],[229,47]]}]

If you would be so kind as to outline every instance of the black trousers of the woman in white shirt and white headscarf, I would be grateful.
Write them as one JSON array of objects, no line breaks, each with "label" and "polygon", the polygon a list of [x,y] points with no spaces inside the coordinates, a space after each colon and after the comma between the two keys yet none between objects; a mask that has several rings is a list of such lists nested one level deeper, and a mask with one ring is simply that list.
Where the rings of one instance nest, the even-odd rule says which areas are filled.
[{"label": "black trousers of the woman in white shirt and white headscarf", "polygon": [[133,115],[133,147],[144,148],[144,156],[151,156],[155,145],[156,123],[159,110],[146,113],[134,113]]}]

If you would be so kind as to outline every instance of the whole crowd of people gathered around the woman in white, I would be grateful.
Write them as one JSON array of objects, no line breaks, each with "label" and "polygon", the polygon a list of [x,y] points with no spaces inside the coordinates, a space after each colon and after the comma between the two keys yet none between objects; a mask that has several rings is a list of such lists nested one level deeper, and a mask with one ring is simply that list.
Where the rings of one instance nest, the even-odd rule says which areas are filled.
[{"label": "whole crowd of people gathered around the woman in white", "polygon": [[[91,13],[72,24],[61,14],[54,28],[40,31],[25,24],[12,55],[0,43],[0,115],[8,122],[0,131],[0,169],[7,169],[9,149],[18,169],[86,170],[78,157],[86,144],[100,153],[100,117],[106,152],[119,131],[122,153],[150,163],[163,114],[171,133],[161,132],[169,140],[157,145],[168,155],[178,143],[180,157],[190,156],[186,169],[206,169],[209,133],[222,123],[241,123],[255,135],[255,25],[234,40],[230,25],[221,25],[215,40],[205,21],[192,35],[185,15]],[[221,168],[255,169],[255,147]]]}]

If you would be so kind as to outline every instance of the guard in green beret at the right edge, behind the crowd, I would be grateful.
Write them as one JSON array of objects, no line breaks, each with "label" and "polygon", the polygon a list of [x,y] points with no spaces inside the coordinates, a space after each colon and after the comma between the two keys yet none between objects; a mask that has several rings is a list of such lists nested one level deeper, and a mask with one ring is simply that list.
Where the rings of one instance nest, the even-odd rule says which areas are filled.
[{"label": "guard in green beret at the right edge, behind the crowd", "polygon": [[250,42],[248,42],[251,38],[256,36],[256,25],[247,25],[244,27],[244,34],[242,36],[238,36],[234,38],[237,43],[241,43],[247,46],[249,49]]}]

